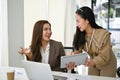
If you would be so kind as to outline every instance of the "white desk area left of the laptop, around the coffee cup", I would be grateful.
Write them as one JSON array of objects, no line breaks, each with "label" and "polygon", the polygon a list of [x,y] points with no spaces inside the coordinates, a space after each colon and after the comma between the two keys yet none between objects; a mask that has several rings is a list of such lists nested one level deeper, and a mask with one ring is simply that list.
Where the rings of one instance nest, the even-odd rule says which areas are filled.
[{"label": "white desk area left of the laptop, around the coffee cup", "polygon": [[7,80],[6,72],[8,69],[15,70],[15,80],[29,80],[24,68],[0,67],[0,80]]}]

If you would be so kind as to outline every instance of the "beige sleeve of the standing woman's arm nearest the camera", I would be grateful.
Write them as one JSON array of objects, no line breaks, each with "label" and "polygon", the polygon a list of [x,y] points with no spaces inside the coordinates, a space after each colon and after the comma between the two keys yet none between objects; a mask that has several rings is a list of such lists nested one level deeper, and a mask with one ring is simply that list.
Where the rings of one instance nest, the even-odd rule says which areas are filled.
[{"label": "beige sleeve of the standing woman's arm nearest the camera", "polygon": [[110,33],[104,36],[102,42],[102,46],[98,52],[98,55],[93,58],[96,66],[102,66],[108,63],[110,59],[110,53],[112,50],[111,42],[110,42]]}]

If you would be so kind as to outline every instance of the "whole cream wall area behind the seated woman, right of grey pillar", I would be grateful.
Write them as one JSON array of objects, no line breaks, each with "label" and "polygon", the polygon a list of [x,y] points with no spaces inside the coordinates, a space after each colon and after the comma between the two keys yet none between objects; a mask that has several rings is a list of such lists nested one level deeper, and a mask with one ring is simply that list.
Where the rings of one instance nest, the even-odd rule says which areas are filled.
[{"label": "whole cream wall area behind the seated woman, right of grey pillar", "polygon": [[33,26],[41,19],[51,23],[51,38],[64,44],[65,10],[66,0],[24,0],[24,46],[29,47]]}]

